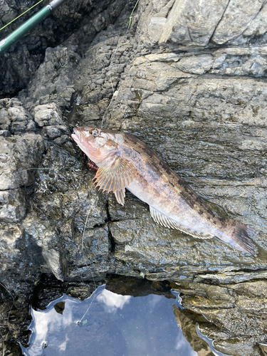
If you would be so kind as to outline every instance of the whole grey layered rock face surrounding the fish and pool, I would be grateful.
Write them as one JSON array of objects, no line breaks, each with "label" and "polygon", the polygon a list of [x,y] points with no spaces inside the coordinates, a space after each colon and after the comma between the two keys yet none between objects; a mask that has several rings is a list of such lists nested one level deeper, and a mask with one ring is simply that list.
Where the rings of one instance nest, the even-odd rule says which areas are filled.
[{"label": "whole grey layered rock face surrounding the fish and pool", "polygon": [[[211,320],[200,331],[218,350],[261,355],[267,4],[142,0],[127,30],[135,2],[66,3],[0,57],[4,350],[15,347],[11,337],[26,342],[9,315],[27,320],[41,273],[59,281],[117,273],[174,281],[184,306]],[[3,25],[23,10],[17,4],[4,2]],[[74,125],[140,137],[216,214],[256,229],[255,255],[158,226],[130,193],[120,206],[96,191],[70,140]]]}]

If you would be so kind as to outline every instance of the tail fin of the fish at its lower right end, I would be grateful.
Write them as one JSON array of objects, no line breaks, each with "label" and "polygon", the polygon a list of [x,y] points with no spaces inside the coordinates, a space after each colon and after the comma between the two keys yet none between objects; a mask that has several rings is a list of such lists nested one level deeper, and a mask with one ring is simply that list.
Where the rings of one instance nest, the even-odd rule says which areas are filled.
[{"label": "tail fin of the fish at its lower right end", "polygon": [[216,234],[216,236],[239,250],[253,255],[254,246],[251,236],[255,233],[254,229],[240,221],[230,219],[224,220],[224,226],[224,229],[220,231],[221,234]]}]

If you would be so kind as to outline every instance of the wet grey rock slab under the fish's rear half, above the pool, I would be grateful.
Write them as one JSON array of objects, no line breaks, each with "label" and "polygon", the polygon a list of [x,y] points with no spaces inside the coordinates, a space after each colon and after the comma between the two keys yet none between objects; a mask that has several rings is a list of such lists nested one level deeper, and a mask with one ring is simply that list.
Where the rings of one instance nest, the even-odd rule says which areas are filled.
[{"label": "wet grey rock slab under the fish's rear half, above the pool", "polygon": [[[241,281],[242,278],[253,278],[253,273],[244,271],[246,268],[253,271],[259,266],[266,266],[264,258],[245,256],[218,239],[192,239],[179,231],[156,226],[150,217],[112,222],[110,232],[115,241],[116,271],[123,273],[127,268],[130,276],[143,273],[151,280],[169,278],[192,281],[200,274],[206,275],[209,281],[209,271],[212,271],[218,273],[222,281]],[[233,270],[235,272],[231,273]]]}]

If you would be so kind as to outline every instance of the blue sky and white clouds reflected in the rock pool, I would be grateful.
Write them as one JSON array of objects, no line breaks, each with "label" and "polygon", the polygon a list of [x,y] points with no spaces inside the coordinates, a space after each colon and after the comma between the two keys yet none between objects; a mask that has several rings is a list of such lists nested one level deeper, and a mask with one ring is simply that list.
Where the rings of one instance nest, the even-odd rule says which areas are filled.
[{"label": "blue sky and white clouds reflected in the rock pool", "polygon": [[[61,314],[56,310],[62,302]],[[23,355],[198,356],[178,327],[172,304],[179,306],[163,295],[134,298],[105,286],[83,301],[63,295],[46,310],[31,310],[31,346],[22,347]]]}]

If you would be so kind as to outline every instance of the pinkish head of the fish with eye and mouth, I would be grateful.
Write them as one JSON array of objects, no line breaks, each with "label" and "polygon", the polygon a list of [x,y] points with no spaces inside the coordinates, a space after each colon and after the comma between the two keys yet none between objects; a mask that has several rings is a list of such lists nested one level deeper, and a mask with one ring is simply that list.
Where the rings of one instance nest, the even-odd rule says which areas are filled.
[{"label": "pinkish head of the fish with eye and mouth", "polygon": [[108,166],[120,154],[115,132],[97,127],[74,127],[73,131],[73,140],[98,167]]}]

